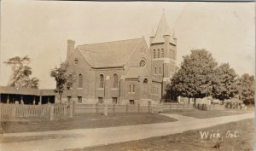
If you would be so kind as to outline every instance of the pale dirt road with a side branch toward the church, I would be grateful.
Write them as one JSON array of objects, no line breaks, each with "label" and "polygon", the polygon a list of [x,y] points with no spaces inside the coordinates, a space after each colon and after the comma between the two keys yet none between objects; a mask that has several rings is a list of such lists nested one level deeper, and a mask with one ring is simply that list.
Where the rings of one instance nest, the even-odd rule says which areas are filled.
[{"label": "pale dirt road with a side branch toward the church", "polygon": [[[25,132],[16,134],[3,134],[3,136],[39,136],[42,139],[28,142],[0,143],[1,151],[44,151],[63,150],[65,148],[83,148],[115,142],[127,142],[144,139],[152,136],[166,136],[183,131],[206,128],[214,125],[225,124],[241,119],[254,118],[254,113],[245,113],[231,116],[223,116],[211,119],[195,119],[187,116],[169,114],[164,115],[178,119],[177,122],[128,125],[119,127],[77,129],[69,131],[44,131]],[[51,136],[53,137],[45,137]]]}]

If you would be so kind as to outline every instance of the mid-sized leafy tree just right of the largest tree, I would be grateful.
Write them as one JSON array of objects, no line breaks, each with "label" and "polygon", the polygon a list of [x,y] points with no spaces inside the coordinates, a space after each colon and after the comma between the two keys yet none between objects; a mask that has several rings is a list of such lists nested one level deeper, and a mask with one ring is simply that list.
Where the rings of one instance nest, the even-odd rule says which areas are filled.
[{"label": "mid-sized leafy tree just right of the largest tree", "polygon": [[236,72],[228,63],[223,63],[214,71],[212,97],[223,101],[237,95]]}]

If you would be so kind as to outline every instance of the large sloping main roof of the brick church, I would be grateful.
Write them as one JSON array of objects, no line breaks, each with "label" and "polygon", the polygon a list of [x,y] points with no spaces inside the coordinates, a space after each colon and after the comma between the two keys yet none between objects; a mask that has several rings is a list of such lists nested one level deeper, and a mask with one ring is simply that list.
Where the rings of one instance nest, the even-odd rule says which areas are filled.
[{"label": "large sloping main roof of the brick church", "polygon": [[143,38],[79,45],[77,49],[92,67],[122,67]]}]

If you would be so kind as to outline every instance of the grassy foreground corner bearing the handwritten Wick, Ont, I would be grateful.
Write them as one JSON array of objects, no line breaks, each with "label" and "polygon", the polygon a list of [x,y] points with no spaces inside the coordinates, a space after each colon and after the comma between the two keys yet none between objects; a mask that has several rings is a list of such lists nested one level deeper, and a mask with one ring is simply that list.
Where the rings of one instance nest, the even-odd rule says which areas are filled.
[{"label": "grassy foreground corner bearing the handwritten Wick, Ont", "polygon": [[[244,119],[224,125],[217,125],[197,131],[186,131],[169,136],[158,136],[132,142],[121,142],[93,148],[76,148],[68,151],[253,151],[254,120]],[[201,139],[200,131],[219,131],[224,137],[221,142],[217,138]],[[228,131],[238,137],[226,137]],[[213,148],[217,142],[220,148]]]}]

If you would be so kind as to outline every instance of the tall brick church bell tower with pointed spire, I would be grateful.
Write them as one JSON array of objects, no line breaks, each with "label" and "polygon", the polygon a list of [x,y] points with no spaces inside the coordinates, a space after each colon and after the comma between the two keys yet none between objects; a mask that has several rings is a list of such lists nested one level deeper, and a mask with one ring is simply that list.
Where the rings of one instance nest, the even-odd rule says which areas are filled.
[{"label": "tall brick church bell tower with pointed spire", "polygon": [[166,15],[160,18],[157,31],[152,31],[149,38],[149,50],[152,61],[152,76],[162,81],[162,97],[166,95],[166,85],[170,84],[177,65],[177,38],[168,26]]}]

